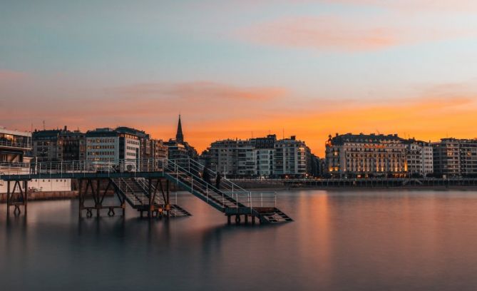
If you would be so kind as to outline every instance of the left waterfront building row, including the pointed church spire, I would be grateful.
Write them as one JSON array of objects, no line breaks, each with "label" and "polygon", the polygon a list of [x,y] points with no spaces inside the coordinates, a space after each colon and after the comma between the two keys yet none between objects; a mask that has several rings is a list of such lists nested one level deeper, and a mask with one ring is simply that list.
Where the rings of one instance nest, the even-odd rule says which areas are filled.
[{"label": "left waterfront building row, including the pointed church spire", "polygon": [[135,128],[96,128],[86,133],[68,128],[34,131],[33,156],[38,162],[68,160],[146,160],[197,158],[197,152],[184,141],[179,117],[178,132],[169,141],[150,138]]}]

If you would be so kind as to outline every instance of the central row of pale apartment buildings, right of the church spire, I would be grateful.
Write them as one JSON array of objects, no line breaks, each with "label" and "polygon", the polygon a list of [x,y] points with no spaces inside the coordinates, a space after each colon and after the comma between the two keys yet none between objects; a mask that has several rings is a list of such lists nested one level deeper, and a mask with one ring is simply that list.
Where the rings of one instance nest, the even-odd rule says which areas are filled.
[{"label": "central row of pale apartment buildings, right of the church spire", "polygon": [[294,137],[215,141],[206,153],[210,168],[233,178],[305,177],[312,168],[309,148]]}]

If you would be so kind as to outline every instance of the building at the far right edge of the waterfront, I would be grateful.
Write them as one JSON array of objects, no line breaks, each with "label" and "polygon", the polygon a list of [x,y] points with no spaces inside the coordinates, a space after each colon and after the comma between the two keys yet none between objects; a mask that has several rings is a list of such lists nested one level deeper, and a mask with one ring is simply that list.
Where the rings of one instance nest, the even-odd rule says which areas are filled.
[{"label": "building at the far right edge of the waterfront", "polygon": [[443,177],[477,176],[477,139],[443,138],[432,144],[434,174]]}]

